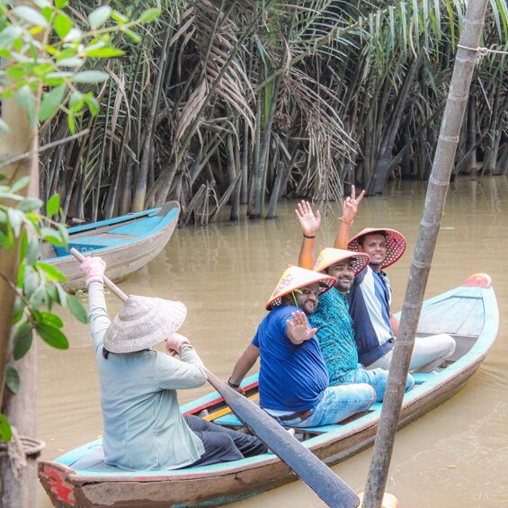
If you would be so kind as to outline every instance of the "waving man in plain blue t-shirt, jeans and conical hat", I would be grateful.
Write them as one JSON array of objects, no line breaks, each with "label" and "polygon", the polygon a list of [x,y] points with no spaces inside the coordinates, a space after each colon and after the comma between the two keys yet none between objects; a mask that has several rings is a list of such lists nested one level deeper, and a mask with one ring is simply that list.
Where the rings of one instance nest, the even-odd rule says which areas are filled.
[{"label": "waving man in plain blue t-shirt, jeans and conical hat", "polygon": [[328,386],[328,371],[319,349],[314,314],[317,298],[334,286],[334,277],[290,266],[272,293],[270,310],[252,343],[236,362],[229,386],[240,381],[261,357],[260,406],[283,425],[312,427],[338,423],[366,411],[376,399],[366,384]]}]

